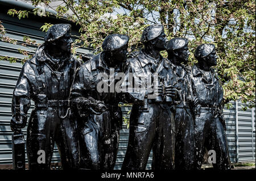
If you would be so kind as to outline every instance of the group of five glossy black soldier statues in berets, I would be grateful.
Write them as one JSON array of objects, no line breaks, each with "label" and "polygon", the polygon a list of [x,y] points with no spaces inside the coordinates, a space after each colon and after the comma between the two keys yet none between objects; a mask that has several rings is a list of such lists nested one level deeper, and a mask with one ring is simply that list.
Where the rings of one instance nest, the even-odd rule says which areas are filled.
[{"label": "group of five glossy black soldier statues in berets", "polygon": [[[158,24],[144,29],[144,47],[138,52],[128,55],[129,37],[113,34],[102,43],[103,51],[82,65],[71,54],[69,24],[53,25],[44,41],[23,65],[13,92],[14,134],[26,126],[31,100],[35,102],[27,125],[29,169],[49,169],[55,143],[63,169],[114,169],[122,129],[120,102],[133,104],[122,170],[146,169],[151,149],[154,170],[199,170],[205,149],[216,152],[214,169],[230,169],[223,90],[212,68],[218,58],[213,44],[199,45],[194,53],[198,63],[190,67],[188,39],[168,41]],[[111,73],[123,73],[119,86],[133,86],[126,81],[129,74],[138,87],[152,78],[156,91],[153,84],[99,91],[102,80],[109,87],[120,81],[102,79]],[[45,153],[44,162],[38,159],[39,150]],[[15,161],[14,167],[24,169],[23,162]]]}]

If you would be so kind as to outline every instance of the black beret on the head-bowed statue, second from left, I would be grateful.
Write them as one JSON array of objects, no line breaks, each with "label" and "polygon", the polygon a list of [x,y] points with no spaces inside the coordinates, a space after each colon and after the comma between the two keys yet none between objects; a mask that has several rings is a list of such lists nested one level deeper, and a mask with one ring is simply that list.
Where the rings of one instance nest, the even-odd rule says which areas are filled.
[{"label": "black beret on the head-bowed statue, second from left", "polygon": [[102,43],[102,49],[106,51],[112,51],[123,48],[128,44],[129,36],[112,34],[108,35]]}]

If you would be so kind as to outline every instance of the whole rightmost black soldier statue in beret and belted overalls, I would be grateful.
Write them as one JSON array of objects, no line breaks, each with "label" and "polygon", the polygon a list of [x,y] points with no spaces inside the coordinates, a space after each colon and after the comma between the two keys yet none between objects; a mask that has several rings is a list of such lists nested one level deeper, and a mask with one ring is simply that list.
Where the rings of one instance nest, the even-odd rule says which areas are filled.
[{"label": "whole rightmost black soldier statue in beret and belted overalls", "polygon": [[224,99],[221,81],[217,71],[217,54],[213,44],[201,44],[194,56],[198,64],[192,67],[192,89],[197,96],[195,107],[196,169],[201,168],[205,148],[214,150],[214,169],[230,169],[228,143],[223,115]]}]

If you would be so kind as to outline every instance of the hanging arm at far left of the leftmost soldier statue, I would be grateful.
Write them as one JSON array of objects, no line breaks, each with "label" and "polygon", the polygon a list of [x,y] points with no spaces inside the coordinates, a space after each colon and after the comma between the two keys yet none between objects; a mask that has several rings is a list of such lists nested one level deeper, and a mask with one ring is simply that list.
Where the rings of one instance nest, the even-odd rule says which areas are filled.
[{"label": "hanging arm at far left of the leftmost soldier statue", "polygon": [[12,131],[19,131],[19,129],[26,127],[27,112],[30,109],[31,87],[28,78],[24,73],[24,69],[26,69],[25,65],[23,65],[13,92],[13,100],[11,104]]}]

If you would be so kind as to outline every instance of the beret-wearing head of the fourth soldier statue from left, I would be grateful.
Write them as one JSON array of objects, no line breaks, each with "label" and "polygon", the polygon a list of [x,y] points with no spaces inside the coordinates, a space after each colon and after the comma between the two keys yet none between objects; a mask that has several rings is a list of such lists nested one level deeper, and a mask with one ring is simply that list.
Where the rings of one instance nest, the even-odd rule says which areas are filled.
[{"label": "beret-wearing head of the fourth soldier statue from left", "polygon": [[176,61],[179,63],[187,64],[188,57],[189,57],[189,50],[188,50],[188,39],[183,37],[175,37],[168,41],[167,44],[167,53],[168,58],[175,58]]}]

